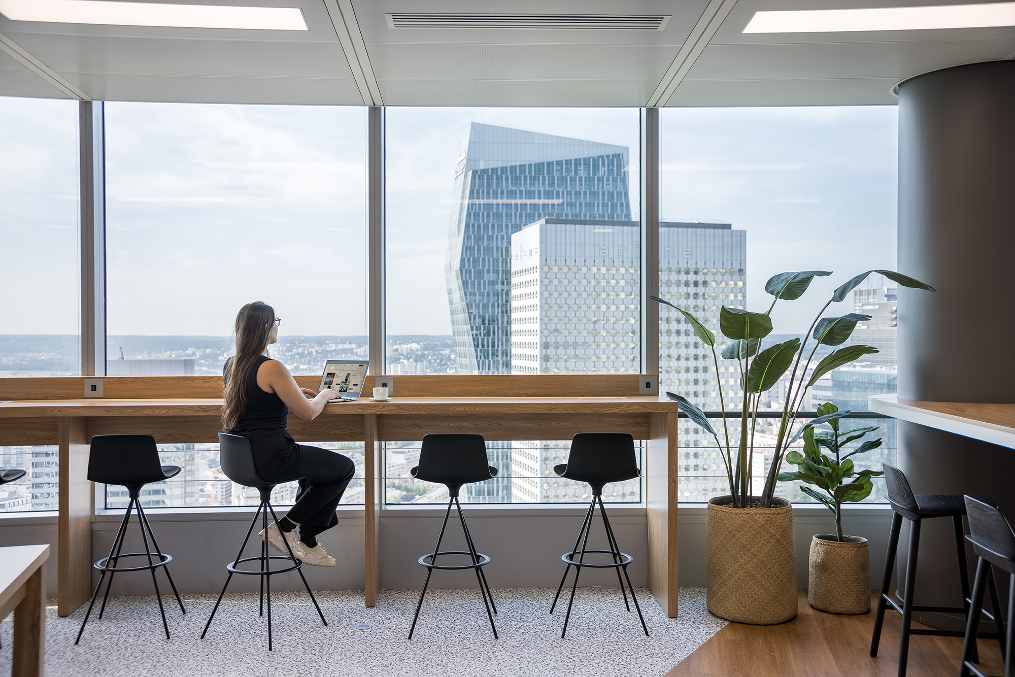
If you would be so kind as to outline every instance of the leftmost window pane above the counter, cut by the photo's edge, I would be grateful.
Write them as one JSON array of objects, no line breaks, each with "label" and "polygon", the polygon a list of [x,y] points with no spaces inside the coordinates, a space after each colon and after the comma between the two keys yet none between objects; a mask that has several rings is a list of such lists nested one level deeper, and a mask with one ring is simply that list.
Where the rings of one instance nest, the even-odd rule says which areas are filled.
[{"label": "leftmost window pane above the counter, cut by the photo's edge", "polygon": [[77,122],[77,101],[0,96],[0,377],[81,375]]}]

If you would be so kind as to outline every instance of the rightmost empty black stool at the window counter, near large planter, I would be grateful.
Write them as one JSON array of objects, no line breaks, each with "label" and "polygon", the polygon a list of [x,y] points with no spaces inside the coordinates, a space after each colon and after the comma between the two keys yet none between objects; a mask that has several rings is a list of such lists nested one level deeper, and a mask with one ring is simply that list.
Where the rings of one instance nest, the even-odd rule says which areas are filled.
[{"label": "rightmost empty black stool at the window counter, near large planter", "polygon": [[[592,500],[589,502],[589,510],[585,514],[585,522],[582,523],[582,529],[578,532],[574,548],[570,552],[565,552],[560,556],[561,559],[567,562],[567,566],[564,567],[563,578],[560,579],[560,585],[557,586],[557,594],[553,598],[553,604],[550,606],[551,614],[557,606],[557,600],[560,599],[560,591],[564,587],[564,581],[567,580],[567,572],[570,571],[571,565],[574,566],[574,584],[571,586],[570,601],[567,602],[567,615],[564,617],[564,629],[560,633],[560,638],[563,639],[564,635],[567,634],[567,623],[570,621],[571,606],[574,604],[574,591],[578,590],[578,577],[582,573],[583,566],[613,568],[616,570],[617,582],[620,584],[620,593],[624,596],[624,606],[627,607],[627,611],[630,611],[631,607],[627,603],[627,593],[624,591],[624,582],[620,578],[620,569],[623,569],[624,579],[627,580],[627,587],[631,592],[631,600],[634,602],[634,608],[637,609],[637,617],[641,620],[641,629],[645,630],[646,636],[649,636],[649,628],[645,624],[641,607],[638,606],[637,598],[634,597],[634,587],[631,586],[630,577],[627,576],[627,565],[634,558],[626,552],[620,551],[620,546],[617,544],[617,537],[614,536],[613,528],[610,527],[609,518],[606,517],[606,505],[603,504],[603,485],[610,482],[623,482],[641,475],[641,471],[637,467],[637,456],[634,453],[634,438],[629,434],[621,432],[580,432],[571,439],[570,456],[567,457],[567,463],[554,466],[553,472],[564,479],[587,482],[592,486]],[[592,532],[592,520],[596,515],[597,503],[599,503],[599,511],[603,516],[603,526],[606,528],[606,540],[610,545],[609,550],[591,550],[588,547],[589,534]],[[585,537],[584,540],[583,536]],[[581,550],[578,549],[579,543],[582,543]],[[609,554],[613,561],[606,564],[586,563],[585,555],[590,552]],[[578,561],[574,561],[576,556],[578,556]]]}]

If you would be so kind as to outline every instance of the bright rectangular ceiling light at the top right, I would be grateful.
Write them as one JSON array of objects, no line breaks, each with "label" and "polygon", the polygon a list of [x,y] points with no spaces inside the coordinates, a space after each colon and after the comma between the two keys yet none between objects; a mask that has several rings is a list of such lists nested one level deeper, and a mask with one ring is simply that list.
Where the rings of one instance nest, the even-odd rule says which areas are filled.
[{"label": "bright rectangular ceiling light at the top right", "polygon": [[743,32],[931,30],[1015,25],[1015,2],[755,12]]}]

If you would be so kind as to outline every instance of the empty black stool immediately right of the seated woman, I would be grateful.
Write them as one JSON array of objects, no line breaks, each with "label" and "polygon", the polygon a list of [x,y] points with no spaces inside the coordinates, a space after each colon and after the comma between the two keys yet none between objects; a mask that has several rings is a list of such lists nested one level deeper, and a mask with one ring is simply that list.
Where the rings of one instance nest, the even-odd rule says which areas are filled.
[{"label": "empty black stool immediately right of the seated woman", "polygon": [[[481,434],[427,434],[423,435],[423,444],[419,450],[419,465],[409,471],[416,479],[425,482],[437,482],[448,486],[448,510],[445,511],[445,520],[441,525],[441,534],[437,536],[437,544],[433,552],[419,558],[419,563],[426,567],[426,581],[423,583],[423,590],[419,594],[419,602],[416,603],[416,614],[412,617],[412,627],[409,628],[409,638],[416,629],[416,620],[419,618],[419,609],[423,606],[423,596],[426,595],[426,587],[430,583],[430,576],[433,569],[466,569],[476,570],[476,581],[479,582],[479,594],[483,596],[483,605],[486,606],[486,615],[490,619],[490,627],[493,628],[493,638],[497,637],[497,628],[493,624],[493,616],[490,614],[490,607],[493,613],[497,612],[496,605],[493,604],[493,595],[490,593],[490,586],[486,583],[486,574],[483,566],[490,563],[489,555],[476,552],[476,546],[472,542],[472,535],[469,533],[469,525],[465,523],[465,515],[462,513],[462,503],[458,500],[458,492],[463,484],[482,482],[492,479],[497,474],[497,469],[489,465],[486,458],[486,443]],[[469,546],[468,550],[442,550],[441,541],[444,539],[445,529],[448,527],[448,518],[451,516],[451,507],[455,505],[458,510],[458,517],[462,521],[462,531],[465,533],[465,542]],[[471,564],[437,564],[437,555],[469,555]],[[487,602],[489,597],[489,602]]]}]

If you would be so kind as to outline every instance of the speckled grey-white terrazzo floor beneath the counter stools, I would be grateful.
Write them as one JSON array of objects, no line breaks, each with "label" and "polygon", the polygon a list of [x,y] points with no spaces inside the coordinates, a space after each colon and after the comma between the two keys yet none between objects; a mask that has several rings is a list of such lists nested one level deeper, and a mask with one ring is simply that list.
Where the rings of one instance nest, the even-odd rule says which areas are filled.
[{"label": "speckled grey-white terrazzo floor beneath the counter stools", "polygon": [[[328,626],[306,593],[275,593],[270,653],[256,594],[226,595],[204,640],[199,637],[214,595],[185,595],[186,615],[172,596],[162,598],[168,641],[153,596],[111,598],[101,620],[92,613],[76,647],[85,607],[60,618],[50,606],[46,675],[662,677],[726,625],[705,610],[703,588],[680,589],[679,618],[667,618],[649,591],[638,589],[647,637],[617,588],[580,588],[561,639],[566,606],[547,613],[554,590],[492,592],[499,639],[490,632],[478,590],[431,590],[411,641],[406,636],[419,591],[383,591],[373,609],[363,607],[361,592],[319,593]],[[356,629],[360,623],[371,627]],[[0,675],[10,674],[12,626],[0,623]]]}]

